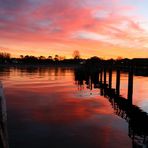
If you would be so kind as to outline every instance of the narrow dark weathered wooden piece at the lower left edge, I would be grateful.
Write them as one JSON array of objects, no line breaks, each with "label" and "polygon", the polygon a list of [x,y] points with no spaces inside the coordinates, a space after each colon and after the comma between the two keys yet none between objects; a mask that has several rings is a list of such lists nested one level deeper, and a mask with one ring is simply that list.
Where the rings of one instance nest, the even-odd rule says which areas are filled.
[{"label": "narrow dark weathered wooden piece at the lower left edge", "polygon": [[0,148],[8,148],[6,102],[0,82]]}]

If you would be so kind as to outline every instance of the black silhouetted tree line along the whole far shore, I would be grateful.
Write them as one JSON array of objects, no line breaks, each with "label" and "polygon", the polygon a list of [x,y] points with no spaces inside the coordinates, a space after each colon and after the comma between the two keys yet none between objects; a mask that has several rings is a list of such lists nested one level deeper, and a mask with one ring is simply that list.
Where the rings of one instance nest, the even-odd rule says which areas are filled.
[{"label": "black silhouetted tree line along the whole far shore", "polygon": [[66,59],[64,56],[55,55],[52,56],[33,56],[33,55],[20,55],[18,58],[11,57],[10,53],[0,52],[0,64],[85,64],[88,66],[97,66],[97,65],[123,65],[124,67],[128,67],[129,65],[134,65],[137,67],[148,67],[148,58],[121,58],[117,59],[108,59],[104,60],[100,57],[93,56],[88,59],[82,59],[78,50],[75,50],[72,54],[73,58]]}]

